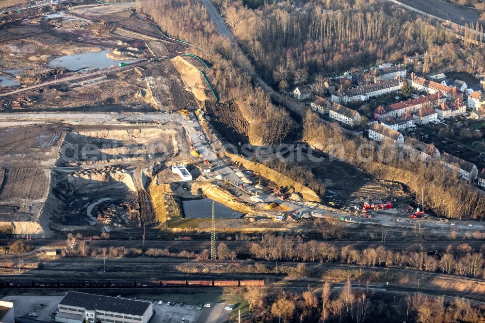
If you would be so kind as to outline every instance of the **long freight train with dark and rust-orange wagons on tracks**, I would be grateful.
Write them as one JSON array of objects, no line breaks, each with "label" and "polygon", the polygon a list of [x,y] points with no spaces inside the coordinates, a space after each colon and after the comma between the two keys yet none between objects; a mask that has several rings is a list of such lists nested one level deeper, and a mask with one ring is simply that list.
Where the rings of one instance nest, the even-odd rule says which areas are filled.
[{"label": "long freight train with dark and rust-orange wagons on tracks", "polygon": [[264,286],[262,279],[104,280],[2,278],[0,288],[154,288]]}]

